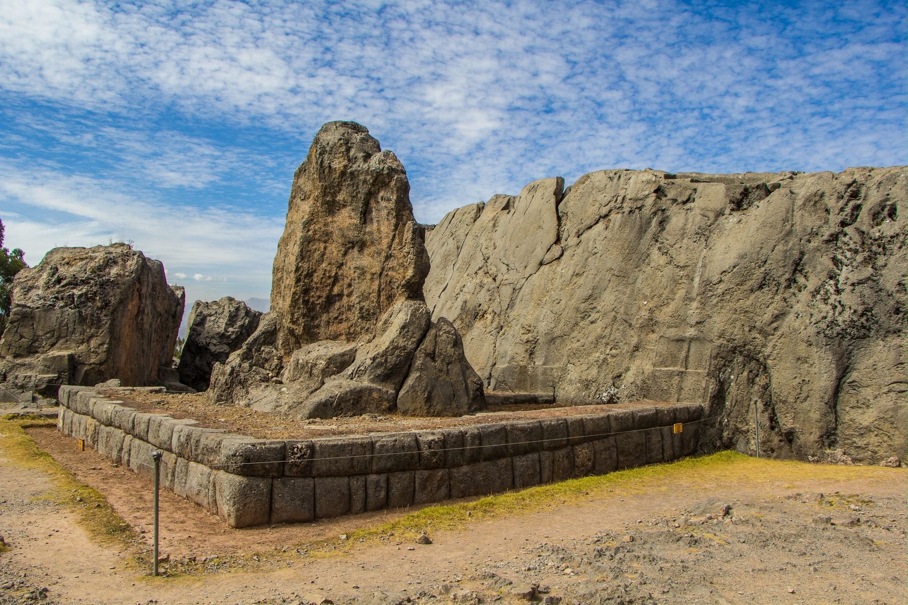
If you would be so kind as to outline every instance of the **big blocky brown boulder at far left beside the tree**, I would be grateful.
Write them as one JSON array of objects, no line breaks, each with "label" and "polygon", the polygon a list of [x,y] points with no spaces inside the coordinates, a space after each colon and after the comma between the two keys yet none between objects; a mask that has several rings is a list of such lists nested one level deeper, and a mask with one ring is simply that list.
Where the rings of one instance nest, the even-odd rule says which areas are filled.
[{"label": "big blocky brown boulder at far left beside the tree", "polygon": [[156,385],[167,379],[183,288],[126,244],[56,248],[13,282],[0,382],[45,395],[57,385]]}]

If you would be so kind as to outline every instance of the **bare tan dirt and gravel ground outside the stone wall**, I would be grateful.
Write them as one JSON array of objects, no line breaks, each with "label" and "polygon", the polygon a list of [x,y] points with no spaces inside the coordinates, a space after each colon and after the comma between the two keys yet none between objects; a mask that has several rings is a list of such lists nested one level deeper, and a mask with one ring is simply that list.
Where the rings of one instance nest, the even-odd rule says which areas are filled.
[{"label": "bare tan dirt and gravel ground outside the stone wall", "polygon": [[[52,429],[30,434],[150,540],[148,482]],[[163,492],[165,569],[186,557],[201,565],[152,579],[88,535],[72,505],[43,499],[47,475],[3,460],[10,550],[0,554],[0,603],[905,602],[908,471],[759,464],[758,474],[723,464],[693,478],[673,464],[660,483],[540,501],[433,533],[431,544],[392,539],[334,554],[317,545],[403,513],[232,530]]]}]

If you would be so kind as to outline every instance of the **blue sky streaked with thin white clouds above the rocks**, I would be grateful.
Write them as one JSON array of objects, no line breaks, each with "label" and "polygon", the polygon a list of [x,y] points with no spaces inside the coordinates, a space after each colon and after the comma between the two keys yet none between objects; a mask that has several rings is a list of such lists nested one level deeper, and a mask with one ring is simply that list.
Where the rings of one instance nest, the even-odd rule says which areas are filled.
[{"label": "blue sky streaked with thin white clouds above the rocks", "polygon": [[905,161],[904,2],[0,0],[0,220],[267,298],[292,173],[365,124],[417,219],[607,168]]}]

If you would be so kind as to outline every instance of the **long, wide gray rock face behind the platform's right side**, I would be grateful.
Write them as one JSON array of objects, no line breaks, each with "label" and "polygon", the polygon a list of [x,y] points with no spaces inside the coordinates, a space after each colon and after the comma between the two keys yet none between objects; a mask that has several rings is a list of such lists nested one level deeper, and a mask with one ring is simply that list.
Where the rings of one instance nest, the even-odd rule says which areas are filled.
[{"label": "long, wide gray rock face behind the platform's right side", "polygon": [[496,390],[706,401],[706,443],[908,454],[905,168],[599,171],[454,210],[425,293]]}]

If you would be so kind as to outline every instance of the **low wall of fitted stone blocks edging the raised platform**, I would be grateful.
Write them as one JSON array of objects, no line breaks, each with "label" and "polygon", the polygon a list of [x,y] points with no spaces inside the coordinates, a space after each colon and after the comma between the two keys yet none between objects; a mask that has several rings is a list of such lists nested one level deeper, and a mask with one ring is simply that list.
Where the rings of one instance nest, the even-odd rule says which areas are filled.
[{"label": "low wall of fitted stone blocks edging the raised platform", "polygon": [[[263,440],[60,389],[58,428],[232,527],[307,522],[661,463],[694,453],[702,405],[616,409],[441,430]],[[672,425],[684,423],[682,433]]]}]

